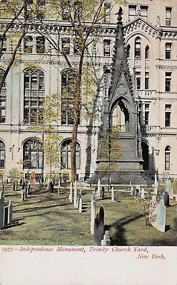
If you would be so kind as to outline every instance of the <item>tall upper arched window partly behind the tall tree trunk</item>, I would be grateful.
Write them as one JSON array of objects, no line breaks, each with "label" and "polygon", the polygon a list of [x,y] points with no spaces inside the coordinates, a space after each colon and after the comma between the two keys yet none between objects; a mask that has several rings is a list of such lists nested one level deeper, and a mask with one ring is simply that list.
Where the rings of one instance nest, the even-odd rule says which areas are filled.
[{"label": "tall upper arched window partly behind the tall tree trunk", "polygon": [[[76,93],[75,78],[71,71],[61,74],[61,125],[74,123],[74,96]],[[78,115],[80,123],[80,113]]]}]

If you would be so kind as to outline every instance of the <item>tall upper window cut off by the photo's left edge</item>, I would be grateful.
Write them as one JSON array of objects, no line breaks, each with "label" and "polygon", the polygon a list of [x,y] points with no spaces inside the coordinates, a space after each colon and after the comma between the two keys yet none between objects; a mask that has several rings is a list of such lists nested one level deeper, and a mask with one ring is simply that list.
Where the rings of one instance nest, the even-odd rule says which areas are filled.
[{"label": "tall upper window cut off by the photo's left edge", "polygon": [[[4,76],[4,70],[0,68],[0,80]],[[6,121],[6,81],[3,82],[1,94],[0,94],[0,123]]]}]

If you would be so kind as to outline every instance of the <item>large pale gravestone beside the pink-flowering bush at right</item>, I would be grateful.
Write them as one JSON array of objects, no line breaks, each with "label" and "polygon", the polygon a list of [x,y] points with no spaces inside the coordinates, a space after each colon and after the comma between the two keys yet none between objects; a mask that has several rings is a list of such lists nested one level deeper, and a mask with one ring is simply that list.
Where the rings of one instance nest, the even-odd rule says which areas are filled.
[{"label": "large pale gravestone beside the pink-flowering bush at right", "polygon": [[153,210],[153,214],[156,216],[155,222],[152,222],[153,227],[161,232],[166,230],[166,206],[164,206],[163,199]]}]

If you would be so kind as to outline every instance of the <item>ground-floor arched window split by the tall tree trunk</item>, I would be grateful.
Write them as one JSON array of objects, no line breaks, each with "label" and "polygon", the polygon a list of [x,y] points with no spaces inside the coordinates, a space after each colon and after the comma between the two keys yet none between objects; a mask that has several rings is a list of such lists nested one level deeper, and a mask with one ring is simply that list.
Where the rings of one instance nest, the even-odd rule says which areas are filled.
[{"label": "ground-floor arched window split by the tall tree trunk", "polygon": [[[76,169],[80,168],[81,147],[76,145]],[[61,144],[61,168],[71,169],[71,140],[65,140]]]}]

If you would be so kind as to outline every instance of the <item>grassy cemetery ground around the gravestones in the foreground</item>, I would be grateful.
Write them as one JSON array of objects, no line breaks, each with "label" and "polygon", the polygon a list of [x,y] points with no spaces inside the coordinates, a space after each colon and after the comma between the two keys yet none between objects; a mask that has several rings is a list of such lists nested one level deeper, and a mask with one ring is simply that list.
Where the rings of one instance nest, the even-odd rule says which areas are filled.
[{"label": "grassy cemetery ground around the gravestones in the foreground", "polygon": [[[176,200],[170,199],[166,209],[166,232],[146,227],[143,206],[130,194],[130,187],[115,186],[118,202],[111,200],[111,191],[105,189],[104,199],[96,197],[96,213],[104,209],[104,229],[110,231],[111,245],[117,246],[176,246]],[[50,192],[46,186],[36,185],[26,201],[21,199],[21,187],[13,191],[4,187],[6,204],[13,204],[12,222],[0,229],[0,244],[7,245],[95,245],[91,234],[91,193],[94,186],[82,187],[82,212],[69,200],[69,185],[61,185]],[[152,189],[145,189],[151,192]],[[79,192],[79,190],[78,190]],[[160,187],[160,192],[164,192]],[[74,200],[74,199],[73,199]]]}]

